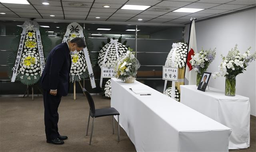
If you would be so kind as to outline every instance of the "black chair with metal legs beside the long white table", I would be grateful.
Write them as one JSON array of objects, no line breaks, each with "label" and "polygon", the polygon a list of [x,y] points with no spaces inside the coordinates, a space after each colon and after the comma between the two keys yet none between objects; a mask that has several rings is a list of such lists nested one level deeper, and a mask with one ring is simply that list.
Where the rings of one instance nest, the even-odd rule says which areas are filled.
[{"label": "black chair with metal legs beside the long white table", "polygon": [[103,116],[113,116],[113,134],[114,134],[114,116],[118,115],[118,142],[119,142],[119,112],[115,108],[101,108],[101,109],[95,109],[94,101],[92,99],[92,96],[90,93],[83,89],[86,98],[90,105],[90,112],[88,117],[88,124],[87,124],[87,130],[86,130],[86,136],[88,136],[88,128],[89,128],[89,122],[90,122],[90,116],[92,117],[92,130],[91,130],[91,136],[90,136],[90,142],[89,145],[91,145],[92,141],[92,131],[94,126],[94,118],[97,117],[103,117]]}]

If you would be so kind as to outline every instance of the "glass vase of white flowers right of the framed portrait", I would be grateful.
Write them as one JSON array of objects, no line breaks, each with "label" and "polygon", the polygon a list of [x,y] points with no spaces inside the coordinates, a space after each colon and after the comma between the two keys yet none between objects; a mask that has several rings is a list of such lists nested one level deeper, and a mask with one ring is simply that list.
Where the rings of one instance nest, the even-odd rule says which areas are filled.
[{"label": "glass vase of white flowers right of the framed portrait", "polygon": [[243,73],[245,68],[249,65],[252,60],[256,59],[256,52],[250,54],[250,48],[244,54],[240,54],[237,49],[237,44],[232,48],[228,55],[221,56],[222,62],[219,67],[220,72],[215,72],[212,74],[214,78],[217,76],[225,76],[225,95],[226,96],[235,96],[236,95],[236,76],[240,73]]}]

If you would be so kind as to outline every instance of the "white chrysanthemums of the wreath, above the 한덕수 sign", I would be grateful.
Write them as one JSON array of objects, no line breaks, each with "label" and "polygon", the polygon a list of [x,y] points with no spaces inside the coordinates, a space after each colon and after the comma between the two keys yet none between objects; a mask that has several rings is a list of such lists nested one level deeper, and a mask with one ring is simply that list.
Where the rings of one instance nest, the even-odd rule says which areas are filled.
[{"label": "white chrysanthemums of the wreath, above the \ud55c\ub355\uc218 sign", "polygon": [[[180,46],[176,49],[176,54],[175,54],[175,58],[174,58],[174,67],[178,67],[178,68],[183,68],[186,66],[186,56],[187,56],[187,52],[188,52],[188,45],[185,43],[177,43],[177,46]],[[171,66],[172,63],[172,54],[170,55],[169,58],[170,62],[169,65],[167,66]]]}]

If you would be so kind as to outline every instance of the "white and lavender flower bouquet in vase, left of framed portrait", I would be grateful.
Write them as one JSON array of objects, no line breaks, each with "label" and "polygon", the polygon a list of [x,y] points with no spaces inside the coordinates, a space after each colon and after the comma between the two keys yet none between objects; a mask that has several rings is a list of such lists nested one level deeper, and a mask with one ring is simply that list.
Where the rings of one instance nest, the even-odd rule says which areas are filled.
[{"label": "white and lavender flower bouquet in vase, left of framed portrait", "polygon": [[202,74],[207,70],[208,66],[212,63],[216,56],[216,48],[214,50],[201,50],[199,53],[196,53],[192,56],[190,60],[191,66],[196,71],[196,86],[199,85]]}]

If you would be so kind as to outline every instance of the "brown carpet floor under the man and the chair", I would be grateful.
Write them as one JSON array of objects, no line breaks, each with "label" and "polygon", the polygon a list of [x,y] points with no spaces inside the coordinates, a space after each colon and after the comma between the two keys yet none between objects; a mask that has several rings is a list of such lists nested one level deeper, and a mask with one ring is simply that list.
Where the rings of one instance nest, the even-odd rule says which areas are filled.
[{"label": "brown carpet floor under the man and the chair", "polygon": [[[93,96],[96,108],[110,106],[110,100]],[[85,136],[89,105],[84,96],[62,97],[59,106],[58,128],[61,135],[68,136],[63,145],[46,143],[44,132],[44,105],[42,97],[34,101],[20,97],[0,97],[0,152],[134,152],[134,144],[120,127],[120,142],[112,134],[112,116],[96,118],[92,145],[90,136]],[[92,119],[90,119],[92,122]],[[90,124],[91,124],[90,122]],[[256,120],[250,121],[251,146],[248,149],[230,152],[256,151]],[[91,128],[91,125],[90,125]],[[89,132],[90,133],[90,128]]]}]

